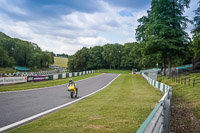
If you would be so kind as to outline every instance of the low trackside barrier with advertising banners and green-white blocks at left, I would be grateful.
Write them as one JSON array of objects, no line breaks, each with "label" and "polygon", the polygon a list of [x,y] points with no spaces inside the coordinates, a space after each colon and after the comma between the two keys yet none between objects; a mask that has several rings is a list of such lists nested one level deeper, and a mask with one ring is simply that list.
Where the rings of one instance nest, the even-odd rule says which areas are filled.
[{"label": "low trackside barrier with advertising banners and green-white blocks at left", "polygon": [[39,75],[39,76],[0,77],[0,85],[16,84],[16,83],[24,83],[24,82],[39,82],[39,81],[45,81],[45,80],[56,80],[56,79],[86,75],[86,74],[90,74],[94,72],[95,70],[89,70],[89,71],[82,71],[82,72],[59,73],[59,74]]}]

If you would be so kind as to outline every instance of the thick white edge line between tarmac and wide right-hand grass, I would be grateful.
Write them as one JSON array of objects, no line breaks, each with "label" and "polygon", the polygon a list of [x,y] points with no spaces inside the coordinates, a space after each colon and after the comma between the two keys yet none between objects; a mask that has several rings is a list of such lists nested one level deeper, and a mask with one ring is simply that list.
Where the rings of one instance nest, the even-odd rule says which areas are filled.
[{"label": "thick white edge line between tarmac and wide right-hand grass", "polygon": [[55,108],[52,108],[52,109],[50,109],[50,110],[44,111],[44,112],[42,112],[42,113],[39,113],[39,114],[37,114],[37,115],[31,116],[31,117],[28,117],[28,118],[23,119],[23,120],[21,120],[21,121],[15,122],[15,123],[13,123],[13,124],[4,126],[4,127],[0,128],[0,132],[3,132],[3,131],[6,131],[6,130],[8,130],[8,129],[17,127],[17,126],[19,126],[19,125],[22,125],[23,123],[29,122],[29,121],[31,121],[31,120],[34,120],[34,119],[39,118],[39,117],[41,117],[41,116],[44,116],[44,115],[46,115],[46,114],[48,114],[48,113],[51,113],[51,112],[53,112],[53,111],[56,111],[56,110],[58,110],[58,109],[60,109],[60,108],[69,106],[69,105],[71,105],[71,104],[73,104],[73,103],[76,103],[76,102],[82,100],[82,99],[85,99],[85,98],[87,98],[87,97],[89,97],[89,96],[91,96],[91,95],[93,95],[93,94],[95,94],[95,93],[97,93],[97,92],[103,90],[103,89],[106,88],[107,86],[109,86],[109,85],[110,85],[113,81],[115,81],[119,76],[120,76],[120,74],[118,74],[117,77],[115,77],[115,78],[114,78],[112,81],[110,81],[107,85],[105,85],[103,88],[101,88],[101,89],[99,89],[99,90],[97,90],[97,91],[94,91],[94,92],[92,92],[92,93],[90,93],[90,94],[88,94],[88,95],[85,95],[85,96],[83,96],[83,97],[81,97],[81,98],[79,98],[79,99],[77,99],[77,100],[68,102],[68,103],[66,103],[66,104],[63,104],[63,105],[57,106],[57,107],[55,107]]}]

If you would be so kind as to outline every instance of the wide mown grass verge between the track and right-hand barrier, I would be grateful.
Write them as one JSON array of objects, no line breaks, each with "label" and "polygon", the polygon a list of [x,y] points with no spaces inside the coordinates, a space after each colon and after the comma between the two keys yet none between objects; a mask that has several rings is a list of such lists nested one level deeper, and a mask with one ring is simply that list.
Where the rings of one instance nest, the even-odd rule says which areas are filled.
[{"label": "wide mown grass verge between the track and right-hand barrier", "polygon": [[104,90],[9,133],[133,133],[161,97],[140,75],[122,74]]}]

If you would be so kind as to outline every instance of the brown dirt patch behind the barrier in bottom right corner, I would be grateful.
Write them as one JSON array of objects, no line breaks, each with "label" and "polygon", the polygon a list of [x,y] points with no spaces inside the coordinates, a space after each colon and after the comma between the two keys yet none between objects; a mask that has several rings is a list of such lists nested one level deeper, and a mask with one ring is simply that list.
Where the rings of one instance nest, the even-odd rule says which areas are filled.
[{"label": "brown dirt patch behind the barrier in bottom right corner", "polygon": [[199,133],[200,120],[194,116],[191,106],[172,98],[170,133]]}]

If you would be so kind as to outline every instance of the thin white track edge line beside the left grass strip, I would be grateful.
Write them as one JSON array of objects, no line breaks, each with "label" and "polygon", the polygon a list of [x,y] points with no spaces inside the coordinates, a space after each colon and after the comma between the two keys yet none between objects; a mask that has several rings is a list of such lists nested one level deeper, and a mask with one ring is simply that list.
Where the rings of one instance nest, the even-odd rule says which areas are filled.
[{"label": "thin white track edge line beside the left grass strip", "polygon": [[[90,79],[90,78],[95,78],[95,77],[101,76],[101,75],[103,75],[103,74],[105,74],[105,73],[102,73],[102,74],[97,75],[97,76],[89,77],[89,78],[86,78],[86,79],[81,79],[81,80],[78,80],[78,81],[75,81],[75,82],[80,82],[80,81],[87,80],[87,79]],[[73,77],[71,77],[71,78],[73,78]],[[55,85],[55,86],[48,86],[48,87],[43,87],[43,88],[27,89],[27,90],[3,91],[3,92],[0,92],[0,94],[3,94],[3,93],[14,93],[14,92],[26,92],[26,91],[37,91],[37,90],[43,90],[43,89],[48,89],[48,88],[52,88],[52,87],[64,86],[64,85],[67,85],[67,84],[68,84],[68,83],[60,84],[60,85]]]}]

